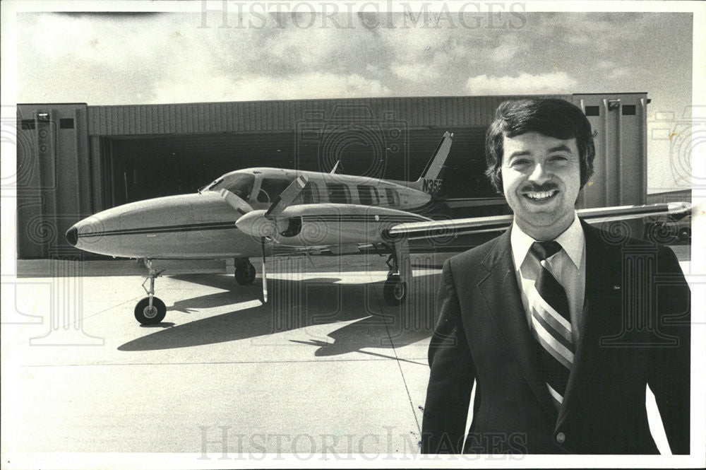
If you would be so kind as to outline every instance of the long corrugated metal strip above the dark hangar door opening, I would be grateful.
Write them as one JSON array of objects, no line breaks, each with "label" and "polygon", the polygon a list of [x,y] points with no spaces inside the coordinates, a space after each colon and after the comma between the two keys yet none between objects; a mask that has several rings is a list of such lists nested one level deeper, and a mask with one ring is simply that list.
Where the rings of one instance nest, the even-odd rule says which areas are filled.
[{"label": "long corrugated metal strip above the dark hangar door opening", "polygon": [[[573,100],[571,95],[542,95]],[[88,107],[88,133],[100,136],[292,131],[313,113],[335,119],[341,110],[357,119],[385,117],[409,127],[486,126],[503,100],[513,96],[357,98],[206,102],[175,105]]]}]

